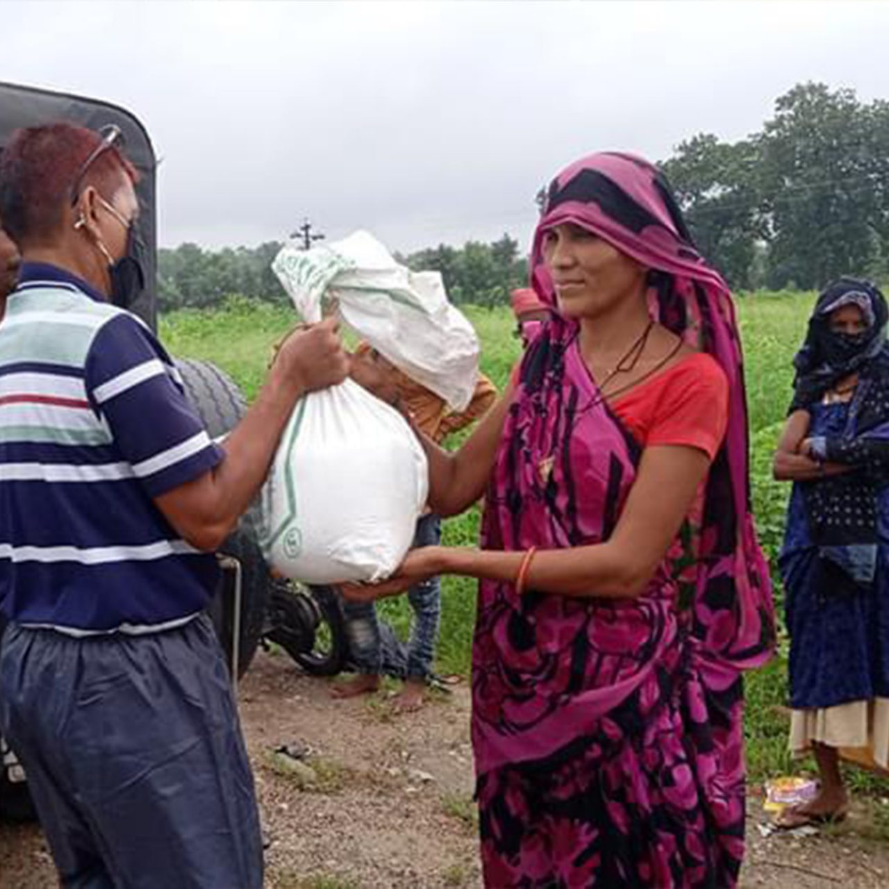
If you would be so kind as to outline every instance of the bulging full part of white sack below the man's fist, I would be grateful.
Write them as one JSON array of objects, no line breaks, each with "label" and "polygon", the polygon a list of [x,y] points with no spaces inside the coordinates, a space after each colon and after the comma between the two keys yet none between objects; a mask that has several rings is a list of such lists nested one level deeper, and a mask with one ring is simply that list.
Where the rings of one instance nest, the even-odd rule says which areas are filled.
[{"label": "bulging full part of white sack below the man's fist", "polygon": [[263,489],[261,543],[292,580],[380,581],[427,497],[426,454],[404,417],[346,380],[296,405]]}]

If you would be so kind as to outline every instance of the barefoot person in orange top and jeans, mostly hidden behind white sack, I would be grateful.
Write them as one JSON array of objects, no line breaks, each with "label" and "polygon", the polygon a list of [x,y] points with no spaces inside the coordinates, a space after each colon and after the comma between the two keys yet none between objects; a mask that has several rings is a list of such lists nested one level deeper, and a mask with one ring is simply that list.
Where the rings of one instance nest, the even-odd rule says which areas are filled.
[{"label": "barefoot person in orange top and jeans, mostly hidden behind white sack", "polygon": [[[497,399],[493,382],[479,374],[469,407],[463,412],[449,412],[444,398],[399,371],[366,343],[356,349],[350,373],[364,388],[411,416],[412,422],[436,442],[442,442],[446,436],[479,420]],[[413,546],[436,546],[440,542],[441,519],[428,512],[417,523]],[[395,703],[396,710],[401,712],[422,706],[423,693],[432,672],[441,616],[440,578],[429,577],[412,586],[408,601],[413,611],[413,623],[404,659],[404,689]],[[346,602],[344,611],[349,645],[359,673],[348,682],[334,686],[332,695],[337,698],[375,692],[380,687],[380,675],[388,666],[384,649],[392,641],[388,632],[383,638],[372,604]],[[400,663],[398,666],[400,668]]]}]

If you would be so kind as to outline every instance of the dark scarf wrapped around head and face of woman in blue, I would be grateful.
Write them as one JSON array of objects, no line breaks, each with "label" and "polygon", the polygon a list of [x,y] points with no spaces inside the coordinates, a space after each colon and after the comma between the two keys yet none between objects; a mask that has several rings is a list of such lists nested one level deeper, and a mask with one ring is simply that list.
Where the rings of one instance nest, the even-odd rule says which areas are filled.
[{"label": "dark scarf wrapped around head and face of woman in blue", "polygon": [[[861,333],[835,333],[830,316],[838,308],[857,306],[867,328]],[[889,359],[886,348],[886,321],[889,310],[883,294],[869,281],[842,277],[821,293],[793,366],[797,370],[791,411],[820,401],[837,382],[861,372],[876,358]]]}]

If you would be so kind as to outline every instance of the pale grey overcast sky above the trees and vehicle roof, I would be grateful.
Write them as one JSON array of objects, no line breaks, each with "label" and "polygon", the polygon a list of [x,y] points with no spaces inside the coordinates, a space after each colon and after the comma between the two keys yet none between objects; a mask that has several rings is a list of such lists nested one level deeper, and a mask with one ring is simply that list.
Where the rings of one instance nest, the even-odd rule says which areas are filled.
[{"label": "pale grey overcast sky above the trees and vehicle roof", "polygon": [[757,130],[794,84],[889,98],[889,4],[17,3],[0,80],[130,108],[164,162],[160,240],[503,231],[576,156]]}]

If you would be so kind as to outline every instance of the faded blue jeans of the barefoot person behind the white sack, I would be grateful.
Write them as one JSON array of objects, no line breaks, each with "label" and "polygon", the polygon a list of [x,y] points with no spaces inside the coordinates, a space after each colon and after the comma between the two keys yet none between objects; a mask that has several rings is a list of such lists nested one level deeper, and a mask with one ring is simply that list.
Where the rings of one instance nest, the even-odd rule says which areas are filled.
[{"label": "faded blue jeans of the barefoot person behind the white sack", "polygon": [[[441,519],[423,516],[417,523],[414,548],[437,546]],[[411,637],[404,646],[388,626],[380,627],[376,608],[369,602],[345,602],[346,633],[357,669],[379,676],[393,673],[408,679],[428,679],[432,674],[438,624],[441,619],[441,579],[430,577],[408,590],[413,610]]]}]

